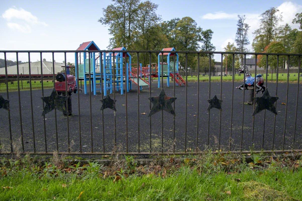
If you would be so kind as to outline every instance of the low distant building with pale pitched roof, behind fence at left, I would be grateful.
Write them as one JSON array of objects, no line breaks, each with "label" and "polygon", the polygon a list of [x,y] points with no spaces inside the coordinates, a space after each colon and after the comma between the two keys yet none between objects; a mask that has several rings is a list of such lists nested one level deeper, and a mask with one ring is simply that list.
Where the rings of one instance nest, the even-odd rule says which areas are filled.
[{"label": "low distant building with pale pitched roof, behind fence at left", "polygon": [[[54,73],[57,74],[58,72],[61,72],[63,70],[62,66],[64,66],[65,63],[59,63],[54,62]],[[42,61],[42,72],[43,77],[53,77],[53,62],[52,61],[46,61],[46,59],[43,59]],[[8,66],[7,67],[7,74],[9,78],[17,78],[17,65],[15,66]],[[29,65],[28,63],[19,64],[19,76],[24,78],[29,77]],[[38,78],[41,77],[41,62],[35,61],[31,62],[31,77],[32,78]],[[5,68],[0,68],[0,78],[5,78]]]}]

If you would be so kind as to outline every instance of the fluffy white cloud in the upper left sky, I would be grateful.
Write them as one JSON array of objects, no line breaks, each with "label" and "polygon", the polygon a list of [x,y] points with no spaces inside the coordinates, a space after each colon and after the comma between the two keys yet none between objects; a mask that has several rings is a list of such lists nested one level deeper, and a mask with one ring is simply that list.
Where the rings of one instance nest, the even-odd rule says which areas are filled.
[{"label": "fluffy white cloud in the upper left sky", "polygon": [[7,26],[14,30],[19,30],[23,33],[31,33],[31,27],[34,25],[47,24],[39,21],[36,16],[23,8],[9,8],[2,14],[2,17],[7,20]]}]

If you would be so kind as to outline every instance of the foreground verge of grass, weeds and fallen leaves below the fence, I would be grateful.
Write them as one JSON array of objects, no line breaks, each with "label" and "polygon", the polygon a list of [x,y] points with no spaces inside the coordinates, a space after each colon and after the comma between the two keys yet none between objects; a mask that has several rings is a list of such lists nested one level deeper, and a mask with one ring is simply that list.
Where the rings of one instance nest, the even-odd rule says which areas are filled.
[{"label": "foreground verge of grass, weeds and fallen leaves below the fence", "polygon": [[[168,158],[165,165],[139,166],[133,157],[111,167],[28,159],[0,168],[1,200],[301,200],[302,160],[249,164],[217,154]],[[233,156],[232,156],[233,157]],[[239,156],[240,157],[240,156]],[[26,162],[27,161],[27,162]],[[178,161],[178,162],[177,162]],[[266,165],[265,165],[266,163]],[[3,164],[3,163],[2,163]],[[72,165],[74,164],[74,165]],[[291,164],[291,165],[290,165]],[[288,166],[289,165],[289,166]]]}]

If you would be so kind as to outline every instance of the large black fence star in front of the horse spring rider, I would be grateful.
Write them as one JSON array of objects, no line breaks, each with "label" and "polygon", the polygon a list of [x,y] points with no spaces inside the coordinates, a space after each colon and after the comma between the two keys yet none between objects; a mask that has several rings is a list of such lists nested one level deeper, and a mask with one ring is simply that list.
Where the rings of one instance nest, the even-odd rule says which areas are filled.
[{"label": "large black fence star in front of the horse spring rider", "polygon": [[254,97],[254,100],[257,103],[257,107],[255,108],[253,115],[256,115],[257,113],[259,113],[264,109],[267,109],[277,115],[277,111],[274,103],[278,100],[278,98],[279,97],[270,96],[266,88],[262,96]]}]

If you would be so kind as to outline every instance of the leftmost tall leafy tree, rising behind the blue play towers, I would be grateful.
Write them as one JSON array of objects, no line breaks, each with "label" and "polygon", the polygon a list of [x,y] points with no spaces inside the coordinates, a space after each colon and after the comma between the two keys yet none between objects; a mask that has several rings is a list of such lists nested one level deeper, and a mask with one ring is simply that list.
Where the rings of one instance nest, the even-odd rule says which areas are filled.
[{"label": "leftmost tall leafy tree, rising behind the blue play towers", "polygon": [[108,48],[131,47],[137,22],[137,10],[140,0],[113,0],[113,4],[103,8],[103,17],[98,21],[109,26]]}]

